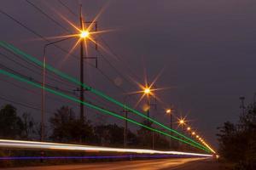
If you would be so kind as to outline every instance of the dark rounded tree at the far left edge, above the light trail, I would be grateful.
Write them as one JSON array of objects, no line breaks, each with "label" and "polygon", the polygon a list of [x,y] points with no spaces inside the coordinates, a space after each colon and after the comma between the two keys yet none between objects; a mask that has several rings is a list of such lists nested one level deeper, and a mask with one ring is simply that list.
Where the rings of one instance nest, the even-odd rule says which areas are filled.
[{"label": "dark rounded tree at the far left edge, above the light trail", "polygon": [[0,137],[2,139],[20,139],[24,131],[24,124],[17,116],[13,105],[3,105],[0,110]]}]

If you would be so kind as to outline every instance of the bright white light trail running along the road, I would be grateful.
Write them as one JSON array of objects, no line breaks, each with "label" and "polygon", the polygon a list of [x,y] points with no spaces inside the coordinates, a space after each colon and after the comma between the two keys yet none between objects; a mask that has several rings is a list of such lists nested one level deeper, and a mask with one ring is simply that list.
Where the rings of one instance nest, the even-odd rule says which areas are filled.
[{"label": "bright white light trail running along the road", "polygon": [[77,151],[109,151],[109,152],[124,152],[137,154],[166,154],[178,156],[205,156],[212,157],[212,155],[198,154],[181,151],[162,151],[162,150],[143,150],[143,149],[122,149],[110,148],[102,146],[90,146],[80,144],[60,144],[48,142],[35,142],[24,140],[7,140],[0,139],[0,147],[2,148],[16,148],[16,149],[34,149],[34,150],[77,150]]}]

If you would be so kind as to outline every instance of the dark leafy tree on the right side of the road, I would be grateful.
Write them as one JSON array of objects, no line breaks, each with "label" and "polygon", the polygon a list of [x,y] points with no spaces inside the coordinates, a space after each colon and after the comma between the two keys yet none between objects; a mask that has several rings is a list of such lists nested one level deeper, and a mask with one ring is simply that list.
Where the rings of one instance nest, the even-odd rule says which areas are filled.
[{"label": "dark leafy tree on the right side of the road", "polygon": [[237,164],[236,169],[256,168],[256,107],[249,105],[236,124],[218,127],[219,154]]}]

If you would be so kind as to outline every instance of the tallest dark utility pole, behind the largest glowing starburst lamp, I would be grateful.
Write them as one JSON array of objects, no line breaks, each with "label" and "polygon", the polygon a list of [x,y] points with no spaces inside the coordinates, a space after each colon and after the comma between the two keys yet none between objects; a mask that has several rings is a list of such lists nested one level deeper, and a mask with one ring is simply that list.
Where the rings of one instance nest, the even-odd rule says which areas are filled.
[{"label": "tallest dark utility pole, behind the largest glowing starburst lamp", "polygon": [[[84,20],[82,16],[82,4],[80,4],[80,25],[81,30],[84,31]],[[84,102],[84,41],[80,41],[80,100]],[[80,120],[84,122],[84,105],[80,103]]]}]

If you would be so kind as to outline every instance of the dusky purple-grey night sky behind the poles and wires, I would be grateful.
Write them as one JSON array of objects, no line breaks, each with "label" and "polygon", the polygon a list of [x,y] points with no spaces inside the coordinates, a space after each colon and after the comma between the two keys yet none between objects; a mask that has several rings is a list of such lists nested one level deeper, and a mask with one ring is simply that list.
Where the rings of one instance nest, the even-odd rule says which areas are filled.
[{"label": "dusky purple-grey night sky behind the poles and wires", "polygon": [[[57,0],[31,0],[46,14],[53,17],[61,25],[71,31],[65,20],[56,14],[60,13],[75,25],[79,26],[78,17],[70,13]],[[166,90],[157,92],[157,96],[166,104],[174,105],[177,111],[176,116],[187,116],[192,127],[211,144],[217,144],[216,127],[229,120],[237,121],[240,114],[239,97],[245,96],[247,102],[253,100],[255,92],[255,39],[256,39],[256,1],[253,0],[62,0],[76,14],[79,13],[79,3],[83,4],[85,20],[93,18],[104,8],[98,18],[99,30],[113,30],[102,33],[102,39],[108,43],[116,56],[111,55],[109,49],[102,54],[118,70],[113,69],[108,62],[99,56],[99,69],[108,76],[102,76],[98,69],[89,65],[85,67],[85,80],[90,86],[101,90],[120,101],[124,100],[125,92],[139,90],[136,83],[144,82],[144,70],[148,75],[148,81],[162,71],[159,79],[155,83],[157,88]],[[36,8],[25,0],[2,0],[0,8],[7,14],[12,15],[32,30],[37,31],[44,37],[55,37],[67,35],[61,26],[49,20]],[[1,20],[1,40],[14,44],[17,48],[32,54],[38,59],[42,59],[43,46],[46,43],[39,37],[19,26],[13,20],[0,14]],[[55,39],[53,39],[54,41]],[[61,42],[58,45],[63,48],[71,48],[75,40]],[[103,43],[100,42],[104,46]],[[104,46],[106,48],[106,46]],[[12,59],[17,59],[9,52],[1,48],[1,53],[7,54]],[[79,77],[79,60],[67,57],[55,47],[50,47],[47,51],[48,62],[61,71],[65,71],[73,77]],[[75,49],[73,54],[79,54],[79,49]],[[89,48],[90,56],[95,56],[93,44]],[[12,57],[13,56],[13,57]],[[66,59],[67,58],[67,59]],[[40,81],[40,75],[28,71],[20,65],[16,65],[10,60],[0,57],[1,64],[8,65],[15,71],[20,71],[29,77],[34,77]],[[18,61],[19,59],[17,59]],[[22,60],[19,60],[22,63]],[[88,61],[94,65],[93,60]],[[27,65],[23,62],[24,65]],[[40,72],[40,68],[32,67]],[[136,75],[136,77],[135,77]],[[119,88],[113,86],[113,81]],[[1,96],[15,101],[22,101],[28,105],[35,105],[40,108],[40,90],[31,88],[28,85],[1,76]],[[127,81],[128,80],[128,81]],[[4,82],[5,81],[5,82]],[[26,90],[11,86],[9,82],[19,86],[30,88],[38,94],[28,93]],[[73,91],[76,86],[69,83],[65,86],[60,82],[50,82],[53,86],[65,88]],[[73,86],[73,87],[72,87]],[[88,94],[88,92],[86,92]],[[85,95],[86,95],[85,94]],[[91,94],[87,97],[90,98]],[[53,95],[49,94],[49,97]],[[55,97],[61,99],[60,97]],[[131,98],[131,105],[134,105],[138,97]],[[96,101],[93,95],[91,101],[106,108],[112,107],[115,111],[121,111],[106,102]],[[70,103],[65,99],[63,102],[55,102],[47,99],[47,110],[50,113],[65,104],[78,110],[78,105]],[[144,102],[144,101],[143,101]],[[142,102],[142,103],[143,103]],[[0,104],[5,101],[0,99]],[[106,104],[106,105],[105,105]],[[160,122],[169,123],[164,109],[166,105],[158,103],[156,111],[152,111],[152,116]],[[30,110],[16,105],[19,111],[29,111],[36,119],[40,116],[40,111]],[[142,105],[137,109],[141,110]],[[87,111],[87,116],[92,122],[98,122],[100,113]],[[96,116],[98,115],[98,116]],[[103,116],[108,122],[118,122],[110,116]],[[131,125],[131,128],[135,128]]]}]

